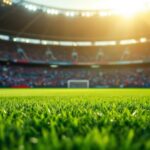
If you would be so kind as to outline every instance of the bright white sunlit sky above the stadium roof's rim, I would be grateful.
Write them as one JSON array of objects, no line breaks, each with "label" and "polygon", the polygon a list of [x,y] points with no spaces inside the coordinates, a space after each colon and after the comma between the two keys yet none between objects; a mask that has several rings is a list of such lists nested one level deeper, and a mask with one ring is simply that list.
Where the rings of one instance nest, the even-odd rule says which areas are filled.
[{"label": "bright white sunlit sky above the stadium roof's rim", "polygon": [[134,13],[147,9],[150,0],[26,0],[46,6],[74,9],[74,10],[100,10],[112,9],[114,11]]}]

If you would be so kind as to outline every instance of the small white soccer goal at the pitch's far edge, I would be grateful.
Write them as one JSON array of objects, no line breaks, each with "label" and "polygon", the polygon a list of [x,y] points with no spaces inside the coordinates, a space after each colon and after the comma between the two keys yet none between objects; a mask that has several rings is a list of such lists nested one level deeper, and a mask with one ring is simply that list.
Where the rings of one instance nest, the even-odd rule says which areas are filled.
[{"label": "small white soccer goal at the pitch's far edge", "polygon": [[89,80],[68,80],[68,88],[89,88]]}]

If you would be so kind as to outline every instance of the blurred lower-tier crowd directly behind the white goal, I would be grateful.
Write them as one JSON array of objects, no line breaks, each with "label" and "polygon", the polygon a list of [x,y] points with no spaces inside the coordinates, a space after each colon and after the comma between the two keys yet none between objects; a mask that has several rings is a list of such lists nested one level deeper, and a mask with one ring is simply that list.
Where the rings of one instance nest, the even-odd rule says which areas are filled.
[{"label": "blurred lower-tier crowd directly behind the white goal", "polygon": [[0,87],[67,87],[68,80],[90,87],[150,87],[150,68],[57,68],[0,65]]}]

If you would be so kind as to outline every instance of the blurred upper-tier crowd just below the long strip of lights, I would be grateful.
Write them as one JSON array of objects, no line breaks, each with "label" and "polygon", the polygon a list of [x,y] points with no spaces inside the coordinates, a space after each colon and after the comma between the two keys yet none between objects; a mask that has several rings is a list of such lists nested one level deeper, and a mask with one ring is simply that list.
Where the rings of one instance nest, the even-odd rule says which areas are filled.
[{"label": "blurred upper-tier crowd just below the long strip of lights", "polygon": [[59,47],[0,42],[0,59],[44,62],[103,63],[108,61],[150,60],[150,46]]}]

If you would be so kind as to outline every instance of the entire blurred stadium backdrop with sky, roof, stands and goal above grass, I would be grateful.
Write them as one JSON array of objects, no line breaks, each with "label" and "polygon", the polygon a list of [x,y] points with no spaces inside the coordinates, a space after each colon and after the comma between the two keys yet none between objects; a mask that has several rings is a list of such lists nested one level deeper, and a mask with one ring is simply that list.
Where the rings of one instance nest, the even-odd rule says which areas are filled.
[{"label": "entire blurred stadium backdrop with sky, roof, stands and goal above grass", "polygon": [[1,0],[0,87],[149,88],[150,0]]}]

